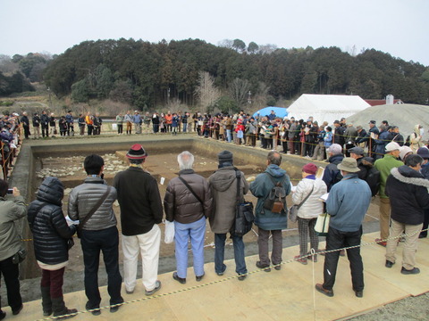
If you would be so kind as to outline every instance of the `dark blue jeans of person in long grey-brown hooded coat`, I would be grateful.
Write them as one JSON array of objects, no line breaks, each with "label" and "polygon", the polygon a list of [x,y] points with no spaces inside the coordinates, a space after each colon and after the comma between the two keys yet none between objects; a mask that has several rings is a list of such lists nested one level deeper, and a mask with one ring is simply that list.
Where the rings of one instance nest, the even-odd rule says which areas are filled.
[{"label": "dark blue jeans of person in long grey-brown hooded coat", "polygon": [[[235,272],[239,275],[248,273],[246,261],[244,260],[244,243],[242,236],[231,235],[234,246]],[[223,264],[225,252],[225,234],[214,234],[214,271],[223,273],[226,266]]]}]

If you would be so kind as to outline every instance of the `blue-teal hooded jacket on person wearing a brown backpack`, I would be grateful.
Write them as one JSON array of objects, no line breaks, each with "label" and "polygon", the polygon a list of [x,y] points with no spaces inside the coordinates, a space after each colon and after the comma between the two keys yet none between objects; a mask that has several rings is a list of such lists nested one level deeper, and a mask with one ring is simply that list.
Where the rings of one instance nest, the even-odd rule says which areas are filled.
[{"label": "blue-teal hooded jacket on person wearing a brown backpack", "polygon": [[257,197],[257,207],[255,209],[255,225],[265,230],[279,230],[288,227],[287,210],[281,213],[273,213],[271,210],[264,208],[264,202],[268,194],[273,189],[273,177],[275,183],[281,182],[286,195],[290,194],[290,177],[286,170],[281,169],[278,165],[270,164],[265,172],[259,174],[252,184],[250,192]]}]

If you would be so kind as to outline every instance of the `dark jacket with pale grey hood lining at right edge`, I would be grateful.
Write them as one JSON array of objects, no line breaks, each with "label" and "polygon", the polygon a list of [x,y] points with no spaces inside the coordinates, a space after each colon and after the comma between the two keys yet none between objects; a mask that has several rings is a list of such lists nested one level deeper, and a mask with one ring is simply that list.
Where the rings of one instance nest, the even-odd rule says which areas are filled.
[{"label": "dark jacket with pale grey hood lining at right edge", "polygon": [[429,209],[429,181],[418,171],[402,165],[391,169],[385,193],[391,200],[391,218],[403,224],[422,224]]}]

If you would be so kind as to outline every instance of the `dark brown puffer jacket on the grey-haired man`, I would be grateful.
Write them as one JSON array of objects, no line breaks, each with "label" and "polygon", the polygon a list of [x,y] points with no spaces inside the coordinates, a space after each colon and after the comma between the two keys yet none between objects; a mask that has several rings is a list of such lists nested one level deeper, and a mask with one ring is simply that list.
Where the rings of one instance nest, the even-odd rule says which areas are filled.
[{"label": "dark brown puffer jacket on the grey-haired man", "polygon": [[210,217],[212,212],[213,197],[206,178],[194,173],[193,169],[184,169],[179,172],[192,188],[194,193],[203,201],[203,204],[189,191],[179,177],[174,177],[167,186],[164,196],[165,218],[181,224],[189,224],[198,221],[205,216]]}]

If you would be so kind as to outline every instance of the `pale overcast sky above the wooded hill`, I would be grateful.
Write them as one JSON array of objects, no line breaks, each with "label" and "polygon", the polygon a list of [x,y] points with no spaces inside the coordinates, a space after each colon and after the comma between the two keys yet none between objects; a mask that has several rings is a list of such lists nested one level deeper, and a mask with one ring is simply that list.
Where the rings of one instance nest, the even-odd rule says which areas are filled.
[{"label": "pale overcast sky above the wooded hill", "polygon": [[429,66],[428,12],[428,0],[0,0],[0,54],[59,54],[121,37],[238,38],[287,49],[374,48]]}]

